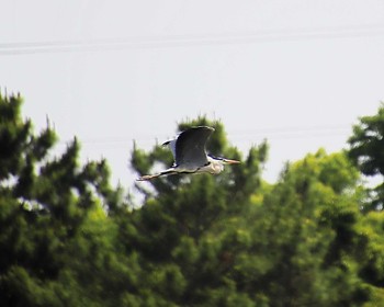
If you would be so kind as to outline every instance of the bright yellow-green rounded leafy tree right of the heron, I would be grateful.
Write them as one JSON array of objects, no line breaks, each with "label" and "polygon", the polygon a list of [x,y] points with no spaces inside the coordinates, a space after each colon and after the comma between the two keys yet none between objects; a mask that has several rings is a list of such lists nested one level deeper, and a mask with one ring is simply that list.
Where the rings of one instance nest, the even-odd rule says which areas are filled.
[{"label": "bright yellow-green rounded leafy tree right of the heron", "polygon": [[[359,178],[346,155],[319,150],[287,164],[262,197],[238,282],[268,306],[362,306],[370,291],[359,276]],[[255,204],[255,205],[256,205]],[[249,252],[249,249],[247,249]]]}]

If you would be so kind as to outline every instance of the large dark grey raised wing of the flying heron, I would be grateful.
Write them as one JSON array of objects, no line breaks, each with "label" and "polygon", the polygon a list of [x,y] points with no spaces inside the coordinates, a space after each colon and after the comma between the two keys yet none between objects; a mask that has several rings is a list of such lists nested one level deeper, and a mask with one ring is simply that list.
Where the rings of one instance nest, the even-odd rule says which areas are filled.
[{"label": "large dark grey raised wing of the flying heron", "polygon": [[205,144],[214,130],[212,127],[200,126],[182,132],[174,144],[176,166],[187,169],[205,166],[208,162]]}]

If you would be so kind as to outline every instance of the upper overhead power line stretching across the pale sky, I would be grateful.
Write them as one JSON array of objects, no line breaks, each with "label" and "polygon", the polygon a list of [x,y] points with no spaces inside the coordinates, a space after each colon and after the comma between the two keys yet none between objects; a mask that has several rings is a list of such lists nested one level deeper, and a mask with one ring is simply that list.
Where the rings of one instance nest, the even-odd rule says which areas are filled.
[{"label": "upper overhead power line stretching across the pale sky", "polygon": [[238,45],[268,42],[375,36],[384,36],[384,24],[269,31],[263,30],[253,32],[206,35],[169,35],[148,37],[3,43],[0,44],[0,55],[16,56],[55,53],[94,53],[140,48],[176,48],[189,46]]}]

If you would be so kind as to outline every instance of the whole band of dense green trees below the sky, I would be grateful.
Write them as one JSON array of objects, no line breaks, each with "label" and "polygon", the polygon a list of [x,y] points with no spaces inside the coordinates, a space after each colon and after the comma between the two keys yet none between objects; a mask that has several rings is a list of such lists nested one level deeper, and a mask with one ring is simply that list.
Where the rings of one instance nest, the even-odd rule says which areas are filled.
[{"label": "whole band of dense green trees below the sky", "polygon": [[[110,184],[106,161],[79,162],[71,141],[0,98],[1,306],[384,306],[381,189],[384,109],[362,117],[346,152],[319,149],[262,180],[268,145],[241,155],[224,125],[210,151],[242,163],[221,175],[137,183],[139,206]],[[135,147],[132,170],[172,163]],[[357,167],[357,168],[355,168]],[[375,192],[375,193],[373,193]]]}]

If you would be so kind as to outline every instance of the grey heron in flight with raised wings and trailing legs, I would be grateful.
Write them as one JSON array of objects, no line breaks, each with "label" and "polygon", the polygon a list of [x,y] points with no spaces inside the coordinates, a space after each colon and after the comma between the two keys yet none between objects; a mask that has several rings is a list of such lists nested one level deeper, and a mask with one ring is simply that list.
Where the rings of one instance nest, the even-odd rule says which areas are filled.
[{"label": "grey heron in flight with raised wings and trailing legs", "polygon": [[224,170],[224,164],[240,163],[237,160],[217,158],[206,154],[205,145],[215,129],[207,126],[197,126],[182,132],[176,139],[168,140],[163,146],[169,146],[174,163],[171,168],[156,174],[147,174],[138,178],[146,181],[160,175],[177,173],[212,173],[217,174]]}]

